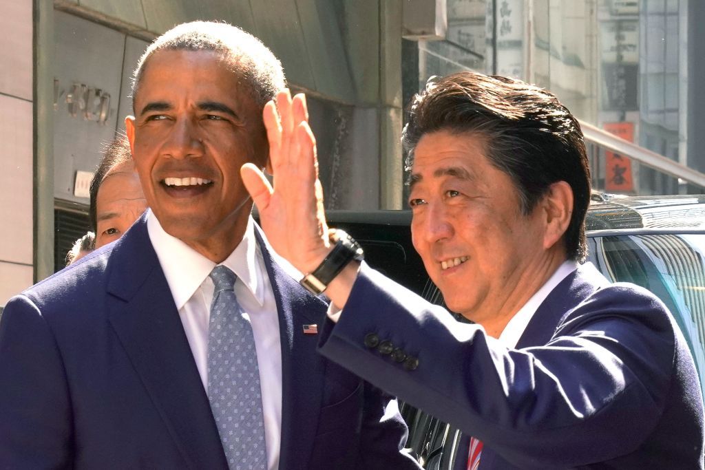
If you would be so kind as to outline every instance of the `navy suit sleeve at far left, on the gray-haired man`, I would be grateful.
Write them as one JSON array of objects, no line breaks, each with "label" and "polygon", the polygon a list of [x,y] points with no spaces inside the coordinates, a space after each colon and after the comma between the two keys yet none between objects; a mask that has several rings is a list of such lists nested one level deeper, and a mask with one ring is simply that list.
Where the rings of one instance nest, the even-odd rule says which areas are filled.
[{"label": "navy suit sleeve at far left, on the gray-haired man", "polygon": [[47,321],[13,297],[0,321],[0,467],[71,466],[66,374]]}]

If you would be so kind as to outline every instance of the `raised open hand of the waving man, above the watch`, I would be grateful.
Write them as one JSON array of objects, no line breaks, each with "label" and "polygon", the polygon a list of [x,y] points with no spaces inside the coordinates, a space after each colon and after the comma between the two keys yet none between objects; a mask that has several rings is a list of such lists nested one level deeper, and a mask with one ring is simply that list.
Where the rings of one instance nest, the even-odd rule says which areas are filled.
[{"label": "raised open hand of the waving man, above the watch", "polygon": [[264,106],[264,126],[274,187],[252,163],[240,170],[259,210],[272,247],[302,273],[329,253],[323,190],[318,179],[316,139],[309,128],[306,98],[286,89]]}]

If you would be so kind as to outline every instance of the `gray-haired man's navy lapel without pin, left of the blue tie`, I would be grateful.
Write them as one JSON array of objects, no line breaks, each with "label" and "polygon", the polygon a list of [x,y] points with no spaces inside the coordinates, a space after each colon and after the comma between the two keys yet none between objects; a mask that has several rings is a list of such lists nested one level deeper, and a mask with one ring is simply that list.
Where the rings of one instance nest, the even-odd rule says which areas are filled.
[{"label": "gray-haired man's navy lapel without pin, left of the blue tie", "polygon": [[227,468],[145,216],[116,242],[107,269],[109,321],[184,461],[191,468]]}]

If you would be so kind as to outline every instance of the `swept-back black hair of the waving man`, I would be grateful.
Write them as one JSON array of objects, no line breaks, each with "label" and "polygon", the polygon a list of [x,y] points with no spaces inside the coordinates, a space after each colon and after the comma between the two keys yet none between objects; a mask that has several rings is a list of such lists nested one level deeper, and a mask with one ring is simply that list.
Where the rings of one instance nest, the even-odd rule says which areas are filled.
[{"label": "swept-back black hair of the waving man", "polygon": [[403,131],[407,170],[421,137],[440,130],[482,137],[490,163],[513,181],[525,215],[551,184],[568,183],[573,208],[565,249],[569,259],[584,261],[590,170],[580,124],[556,96],[521,80],[482,73],[431,79],[412,100]]}]

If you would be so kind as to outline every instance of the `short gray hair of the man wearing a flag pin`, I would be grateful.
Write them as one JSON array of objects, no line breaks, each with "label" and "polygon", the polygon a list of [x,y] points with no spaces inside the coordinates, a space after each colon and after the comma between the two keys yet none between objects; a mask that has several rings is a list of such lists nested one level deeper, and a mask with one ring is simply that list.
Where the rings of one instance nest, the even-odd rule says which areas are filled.
[{"label": "short gray hair of the man wearing a flag pin", "polygon": [[252,98],[263,108],[267,101],[274,99],[286,87],[281,62],[262,41],[227,23],[192,21],[173,27],[157,37],[142,54],[133,72],[133,109],[142,73],[149,65],[149,58],[158,51],[213,51],[219,54],[233,72],[245,80]]}]

